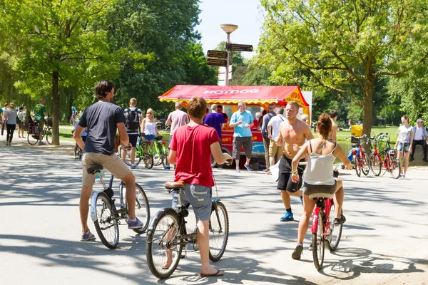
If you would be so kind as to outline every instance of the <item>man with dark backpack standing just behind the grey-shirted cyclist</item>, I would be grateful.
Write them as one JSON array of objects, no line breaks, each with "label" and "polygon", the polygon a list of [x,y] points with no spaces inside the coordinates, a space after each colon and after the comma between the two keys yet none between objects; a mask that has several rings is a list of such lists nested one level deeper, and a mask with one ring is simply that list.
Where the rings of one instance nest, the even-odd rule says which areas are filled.
[{"label": "man with dark backpack standing just behind the grey-shirted cyclist", "polygon": [[[140,135],[140,120],[143,118],[143,112],[136,107],[137,99],[131,98],[129,100],[129,108],[123,110],[125,114],[125,126],[126,133],[128,134],[129,143],[131,143],[132,148],[129,156],[131,158],[131,168],[136,169],[138,166],[136,165],[136,146],[138,135]],[[122,160],[126,160],[126,150],[122,148],[121,150]]]}]

